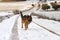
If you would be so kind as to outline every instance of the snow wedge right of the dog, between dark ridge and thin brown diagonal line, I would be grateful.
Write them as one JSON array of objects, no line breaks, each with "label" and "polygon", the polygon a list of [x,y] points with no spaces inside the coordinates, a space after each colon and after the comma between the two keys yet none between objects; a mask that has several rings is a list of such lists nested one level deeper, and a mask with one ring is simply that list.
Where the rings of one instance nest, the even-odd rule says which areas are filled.
[{"label": "snow wedge right of the dog, between dark ridge and thin brown diagonal line", "polygon": [[35,21],[36,23],[60,34],[60,22],[47,19],[36,19]]}]

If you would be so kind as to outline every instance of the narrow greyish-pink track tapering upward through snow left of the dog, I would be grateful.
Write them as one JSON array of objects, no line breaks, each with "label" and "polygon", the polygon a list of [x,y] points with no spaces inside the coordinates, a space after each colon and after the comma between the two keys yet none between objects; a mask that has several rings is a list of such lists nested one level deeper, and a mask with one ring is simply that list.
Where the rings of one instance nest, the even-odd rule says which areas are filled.
[{"label": "narrow greyish-pink track tapering upward through snow left of the dog", "polygon": [[16,18],[15,23],[13,25],[9,40],[19,40],[17,19],[18,17]]}]

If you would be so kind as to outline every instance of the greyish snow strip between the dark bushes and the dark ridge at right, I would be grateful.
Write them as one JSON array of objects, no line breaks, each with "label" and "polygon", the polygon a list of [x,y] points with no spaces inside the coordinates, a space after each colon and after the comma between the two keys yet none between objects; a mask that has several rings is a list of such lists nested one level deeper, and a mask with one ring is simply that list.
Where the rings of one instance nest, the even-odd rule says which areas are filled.
[{"label": "greyish snow strip between the dark bushes and the dark ridge at right", "polygon": [[60,11],[35,11],[35,13],[50,19],[60,20]]}]

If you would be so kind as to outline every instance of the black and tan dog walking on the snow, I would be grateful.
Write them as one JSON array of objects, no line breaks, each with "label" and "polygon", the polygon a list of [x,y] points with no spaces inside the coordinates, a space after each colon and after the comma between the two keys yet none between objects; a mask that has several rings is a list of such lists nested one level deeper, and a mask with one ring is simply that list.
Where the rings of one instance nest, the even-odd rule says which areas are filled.
[{"label": "black and tan dog walking on the snow", "polygon": [[22,28],[24,25],[25,30],[27,30],[28,25],[32,22],[32,16],[31,15],[24,15],[22,14],[22,12],[20,11],[21,14],[21,19],[22,19]]}]

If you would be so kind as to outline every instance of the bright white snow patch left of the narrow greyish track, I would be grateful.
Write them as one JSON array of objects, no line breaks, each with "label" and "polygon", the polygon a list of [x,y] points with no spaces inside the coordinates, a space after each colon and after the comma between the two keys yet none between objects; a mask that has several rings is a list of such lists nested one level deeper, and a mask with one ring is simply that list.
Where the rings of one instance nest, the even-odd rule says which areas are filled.
[{"label": "bright white snow patch left of the narrow greyish track", "polygon": [[0,40],[9,40],[16,18],[17,16],[13,16],[0,23]]}]

